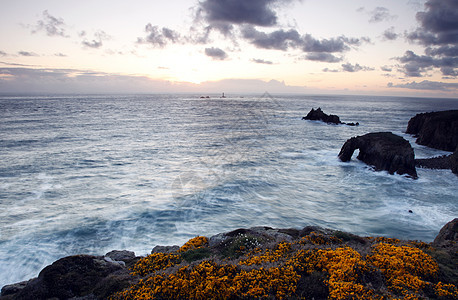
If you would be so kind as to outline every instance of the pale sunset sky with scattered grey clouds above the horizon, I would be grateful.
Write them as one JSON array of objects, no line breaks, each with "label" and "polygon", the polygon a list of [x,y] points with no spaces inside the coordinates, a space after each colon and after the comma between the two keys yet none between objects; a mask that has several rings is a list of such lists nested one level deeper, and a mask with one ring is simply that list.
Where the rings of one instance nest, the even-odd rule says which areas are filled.
[{"label": "pale sunset sky with scattered grey clouds above the horizon", "polygon": [[458,98],[458,0],[0,0],[0,93]]}]

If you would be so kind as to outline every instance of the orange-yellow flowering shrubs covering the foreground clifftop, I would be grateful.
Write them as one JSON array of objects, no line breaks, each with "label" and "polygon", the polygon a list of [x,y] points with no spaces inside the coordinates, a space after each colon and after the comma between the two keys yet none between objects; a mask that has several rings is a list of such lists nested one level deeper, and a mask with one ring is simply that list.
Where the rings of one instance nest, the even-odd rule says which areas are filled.
[{"label": "orange-yellow flowering shrubs covering the foreground clifftop", "polygon": [[342,232],[289,241],[239,233],[211,247],[196,237],[140,259],[135,283],[111,299],[457,299],[436,251]]}]

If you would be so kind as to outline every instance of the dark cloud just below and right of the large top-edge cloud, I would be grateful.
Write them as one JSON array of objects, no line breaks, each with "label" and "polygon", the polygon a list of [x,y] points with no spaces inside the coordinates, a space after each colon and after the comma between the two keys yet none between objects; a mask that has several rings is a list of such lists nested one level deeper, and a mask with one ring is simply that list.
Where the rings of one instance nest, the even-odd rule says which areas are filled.
[{"label": "dark cloud just below and right of the large top-edge cloud", "polygon": [[280,29],[271,33],[265,33],[258,31],[254,26],[247,25],[242,27],[242,37],[262,49],[286,51],[290,47],[296,48],[302,44],[301,36],[294,29],[288,31]]}]

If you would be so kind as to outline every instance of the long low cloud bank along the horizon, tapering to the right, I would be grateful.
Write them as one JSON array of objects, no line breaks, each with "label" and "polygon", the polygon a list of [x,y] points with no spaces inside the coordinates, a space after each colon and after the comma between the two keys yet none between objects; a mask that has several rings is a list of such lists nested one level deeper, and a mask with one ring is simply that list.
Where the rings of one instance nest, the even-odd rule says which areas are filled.
[{"label": "long low cloud bank along the horizon, tapering to the right", "polygon": [[[2,76],[4,75],[4,76]],[[201,84],[171,82],[78,69],[0,68],[0,92],[17,93],[304,93],[303,86],[289,86],[278,80],[224,79]]]}]

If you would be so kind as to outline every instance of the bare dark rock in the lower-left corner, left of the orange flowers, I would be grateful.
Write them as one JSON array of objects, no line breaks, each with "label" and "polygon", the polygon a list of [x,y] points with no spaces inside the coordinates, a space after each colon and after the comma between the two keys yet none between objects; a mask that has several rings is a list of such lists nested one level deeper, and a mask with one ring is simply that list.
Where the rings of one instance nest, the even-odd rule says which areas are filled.
[{"label": "bare dark rock in the lower-left corner, left of the orange flowers", "polygon": [[37,278],[2,288],[1,299],[105,299],[131,283],[126,268],[135,261],[129,251],[105,256],[75,255],[45,267]]}]

